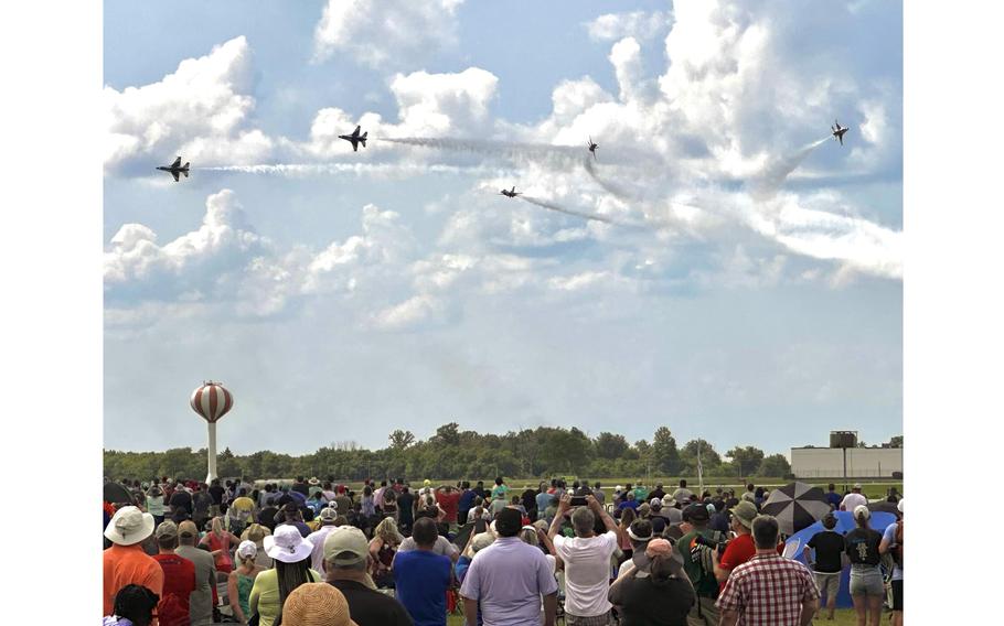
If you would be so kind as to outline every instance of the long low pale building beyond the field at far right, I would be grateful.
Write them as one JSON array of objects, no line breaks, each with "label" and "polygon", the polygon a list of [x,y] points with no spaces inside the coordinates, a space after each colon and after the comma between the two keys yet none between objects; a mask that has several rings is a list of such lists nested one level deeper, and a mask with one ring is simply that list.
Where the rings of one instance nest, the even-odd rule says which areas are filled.
[{"label": "long low pale building beyond the field at far right", "polygon": [[901,447],[792,447],[791,473],[797,478],[842,478],[844,452],[848,478],[890,478],[902,472]]}]

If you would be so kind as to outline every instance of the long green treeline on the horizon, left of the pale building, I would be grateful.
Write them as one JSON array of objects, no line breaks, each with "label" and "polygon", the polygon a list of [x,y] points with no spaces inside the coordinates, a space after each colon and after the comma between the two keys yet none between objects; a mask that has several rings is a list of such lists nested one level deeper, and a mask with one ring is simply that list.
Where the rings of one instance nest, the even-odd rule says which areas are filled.
[{"label": "long green treeline on the horizon, left of the pale building", "polygon": [[[601,432],[589,438],[577,428],[540,427],[505,434],[461,431],[456,422],[444,424],[426,441],[409,431],[396,430],[382,450],[354,445],[321,447],[312,454],[291,456],[269,451],[235,455],[229,449],[216,456],[220,476],[246,479],[296,475],[335,476],[361,481],[366,477],[491,478],[493,476],[696,476],[697,449],[705,476],[783,477],[791,467],[783,454],[736,446],[719,454],[704,440],[679,446],[666,427],[652,441],[629,443],[623,435]],[[727,458],[727,460],[726,460]],[[201,479],[205,476],[206,451],[178,447],[165,452],[105,451],[105,476],[149,478],[171,476]]]}]

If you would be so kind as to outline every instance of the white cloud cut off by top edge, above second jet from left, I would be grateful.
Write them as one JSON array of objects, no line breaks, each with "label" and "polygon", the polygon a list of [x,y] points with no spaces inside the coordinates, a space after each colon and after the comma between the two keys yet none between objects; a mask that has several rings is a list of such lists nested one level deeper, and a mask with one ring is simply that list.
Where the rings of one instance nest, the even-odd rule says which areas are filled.
[{"label": "white cloud cut off by top edge, above second jet from left", "polygon": [[463,0],[329,0],[313,34],[314,58],[346,53],[371,67],[403,66],[457,43]]}]

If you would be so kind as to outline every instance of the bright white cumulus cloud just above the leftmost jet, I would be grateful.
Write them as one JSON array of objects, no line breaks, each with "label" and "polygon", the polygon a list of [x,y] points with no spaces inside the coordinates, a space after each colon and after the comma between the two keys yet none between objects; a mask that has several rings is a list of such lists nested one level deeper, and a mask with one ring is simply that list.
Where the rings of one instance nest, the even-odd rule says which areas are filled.
[{"label": "bright white cumulus cloud just above the leftmost jet", "polygon": [[121,91],[106,86],[105,170],[116,172],[175,154],[202,163],[248,163],[261,159],[273,140],[248,126],[255,99],[252,51],[244,36],[186,58],[162,80]]}]

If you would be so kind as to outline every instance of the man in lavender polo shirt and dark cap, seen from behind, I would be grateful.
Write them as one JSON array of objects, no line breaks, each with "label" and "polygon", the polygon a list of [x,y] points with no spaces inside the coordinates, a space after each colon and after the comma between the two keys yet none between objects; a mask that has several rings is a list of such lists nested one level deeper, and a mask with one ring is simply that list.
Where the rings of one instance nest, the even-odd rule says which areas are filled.
[{"label": "man in lavender polo shirt and dark cap, seen from behind", "polygon": [[495,519],[498,539],[471,561],[460,587],[468,626],[478,624],[479,608],[487,624],[537,626],[542,598],[543,623],[554,625],[558,591],[554,570],[540,548],[517,537],[521,530],[520,512],[504,509]]}]

